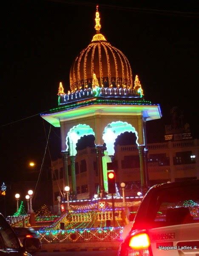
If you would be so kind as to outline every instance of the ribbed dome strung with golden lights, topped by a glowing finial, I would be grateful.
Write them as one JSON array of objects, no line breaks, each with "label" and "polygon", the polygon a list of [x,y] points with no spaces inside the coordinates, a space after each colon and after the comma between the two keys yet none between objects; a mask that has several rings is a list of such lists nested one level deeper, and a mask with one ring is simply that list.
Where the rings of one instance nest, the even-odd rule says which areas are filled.
[{"label": "ribbed dome strung with golden lights, topped by a glowing finial", "polygon": [[[108,43],[99,32],[101,25],[98,9],[95,22],[96,35],[72,64],[70,70],[71,91],[96,85],[132,88],[132,71],[128,58],[119,49]],[[94,84],[96,78],[97,84]]]}]

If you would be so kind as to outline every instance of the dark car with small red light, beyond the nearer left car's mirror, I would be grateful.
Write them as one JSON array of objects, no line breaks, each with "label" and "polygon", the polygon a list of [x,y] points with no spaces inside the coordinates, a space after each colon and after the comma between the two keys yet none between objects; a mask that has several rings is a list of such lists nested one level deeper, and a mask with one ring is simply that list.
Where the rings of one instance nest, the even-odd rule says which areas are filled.
[{"label": "dark car with small red light, beyond the nearer left car's mirror", "polygon": [[20,241],[23,242],[26,239],[30,239],[32,237],[35,237],[37,239],[40,239],[41,236],[37,233],[36,230],[32,227],[12,227],[17,237],[20,239]]}]

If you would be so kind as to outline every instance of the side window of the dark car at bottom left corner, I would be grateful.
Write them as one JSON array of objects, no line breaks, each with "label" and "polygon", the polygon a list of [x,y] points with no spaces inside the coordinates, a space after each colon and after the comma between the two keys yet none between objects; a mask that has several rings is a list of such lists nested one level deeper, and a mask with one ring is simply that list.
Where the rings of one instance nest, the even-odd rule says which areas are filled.
[{"label": "side window of the dark car at bottom left corner", "polygon": [[[9,226],[9,224],[0,216],[0,237],[6,248],[17,249],[19,248],[19,242]],[[3,246],[3,245],[1,245]]]}]

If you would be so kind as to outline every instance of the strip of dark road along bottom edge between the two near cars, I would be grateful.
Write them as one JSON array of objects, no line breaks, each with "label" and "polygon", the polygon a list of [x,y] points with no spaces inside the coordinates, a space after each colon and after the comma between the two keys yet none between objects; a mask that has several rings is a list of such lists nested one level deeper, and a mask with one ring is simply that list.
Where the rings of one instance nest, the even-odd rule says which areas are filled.
[{"label": "strip of dark road along bottom edge between the two near cars", "polygon": [[34,256],[117,256],[117,250],[85,251],[85,252],[59,252],[34,253]]}]

